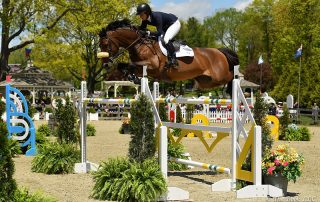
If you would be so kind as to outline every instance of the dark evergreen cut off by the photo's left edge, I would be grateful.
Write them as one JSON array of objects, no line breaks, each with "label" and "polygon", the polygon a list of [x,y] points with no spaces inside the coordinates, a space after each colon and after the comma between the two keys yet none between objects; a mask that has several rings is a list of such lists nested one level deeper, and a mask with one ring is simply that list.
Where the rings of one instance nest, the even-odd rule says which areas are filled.
[{"label": "dark evergreen cut off by the photo's left edge", "polygon": [[[2,103],[2,101],[0,101],[0,103]],[[2,103],[0,105],[0,112],[3,112],[3,106]],[[13,153],[8,146],[7,134],[6,124],[0,120],[0,201],[11,201],[17,188],[16,181],[13,179]]]}]

